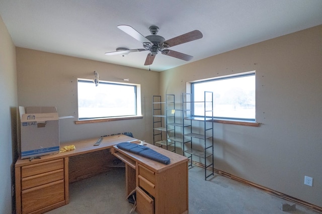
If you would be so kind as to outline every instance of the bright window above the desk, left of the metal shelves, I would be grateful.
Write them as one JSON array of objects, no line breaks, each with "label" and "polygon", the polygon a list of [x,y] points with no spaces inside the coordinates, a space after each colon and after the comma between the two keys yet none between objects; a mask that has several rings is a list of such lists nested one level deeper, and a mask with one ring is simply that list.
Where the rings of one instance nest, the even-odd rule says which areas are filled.
[{"label": "bright window above the desk, left of the metal shelves", "polygon": [[78,79],[78,119],[141,116],[140,85]]}]

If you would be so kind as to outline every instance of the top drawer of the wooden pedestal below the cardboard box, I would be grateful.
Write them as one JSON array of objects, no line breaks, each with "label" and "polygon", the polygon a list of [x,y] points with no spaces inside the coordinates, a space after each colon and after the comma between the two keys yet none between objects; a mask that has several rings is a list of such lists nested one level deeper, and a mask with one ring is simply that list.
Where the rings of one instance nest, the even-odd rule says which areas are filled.
[{"label": "top drawer of the wooden pedestal below the cardboard box", "polygon": [[21,167],[21,177],[28,177],[64,168],[64,159],[46,161]]}]

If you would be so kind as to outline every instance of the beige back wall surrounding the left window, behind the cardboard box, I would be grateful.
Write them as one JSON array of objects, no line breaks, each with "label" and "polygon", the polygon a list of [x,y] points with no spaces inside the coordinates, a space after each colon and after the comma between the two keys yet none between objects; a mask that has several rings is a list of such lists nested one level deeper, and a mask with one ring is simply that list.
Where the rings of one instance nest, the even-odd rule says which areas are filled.
[{"label": "beige back wall surrounding the left window, behind the cardboard box", "polygon": [[[113,65],[36,50],[17,48],[18,104],[56,106],[60,142],[132,132],[135,138],[152,142],[152,95],[159,93],[159,72]],[[75,125],[77,78],[141,84],[143,119]],[[129,81],[123,79],[129,78]],[[94,85],[94,83],[93,83]]]}]

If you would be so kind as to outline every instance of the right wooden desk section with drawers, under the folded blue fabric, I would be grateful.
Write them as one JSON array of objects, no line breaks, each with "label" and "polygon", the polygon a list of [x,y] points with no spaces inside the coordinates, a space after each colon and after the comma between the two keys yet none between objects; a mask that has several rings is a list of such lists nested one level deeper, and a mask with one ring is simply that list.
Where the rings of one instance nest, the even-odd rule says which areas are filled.
[{"label": "right wooden desk section with drawers, under the folded blue fabric", "polygon": [[126,164],[127,194],[136,189],[136,211],[188,213],[188,159],[150,144],[146,146],[169,157],[171,163],[165,165],[112,147],[112,154]]}]

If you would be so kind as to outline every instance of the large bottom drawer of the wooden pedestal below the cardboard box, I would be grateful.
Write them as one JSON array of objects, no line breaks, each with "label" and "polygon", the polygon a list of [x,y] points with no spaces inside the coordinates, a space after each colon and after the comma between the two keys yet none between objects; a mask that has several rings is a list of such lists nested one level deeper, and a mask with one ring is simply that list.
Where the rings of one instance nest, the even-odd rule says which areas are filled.
[{"label": "large bottom drawer of the wooden pedestal below the cardboard box", "polygon": [[22,191],[22,213],[29,213],[65,200],[64,180]]}]

